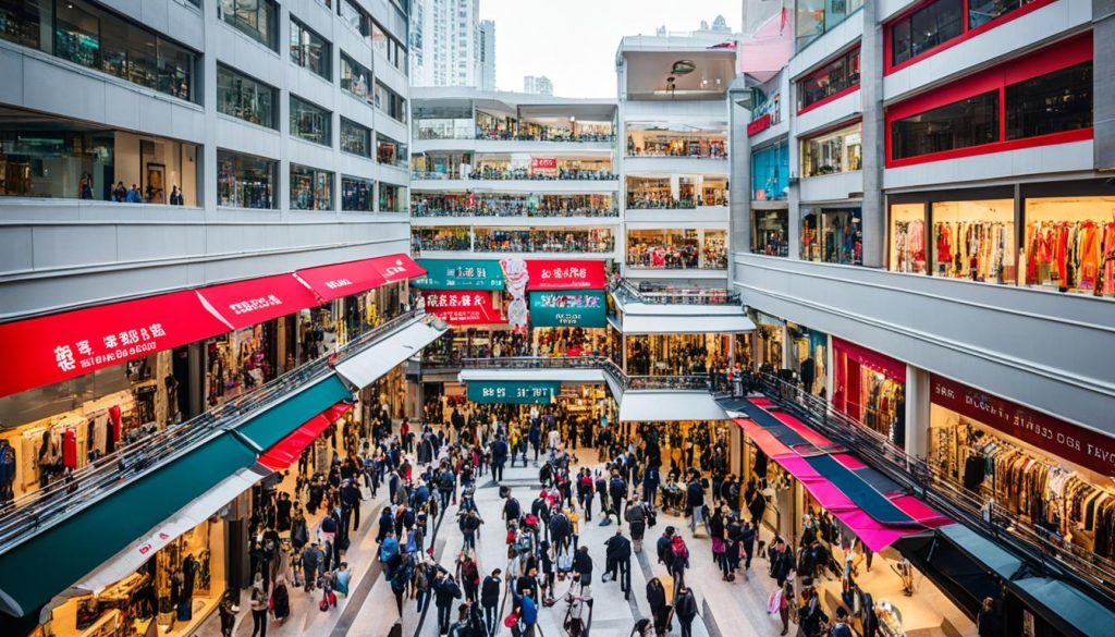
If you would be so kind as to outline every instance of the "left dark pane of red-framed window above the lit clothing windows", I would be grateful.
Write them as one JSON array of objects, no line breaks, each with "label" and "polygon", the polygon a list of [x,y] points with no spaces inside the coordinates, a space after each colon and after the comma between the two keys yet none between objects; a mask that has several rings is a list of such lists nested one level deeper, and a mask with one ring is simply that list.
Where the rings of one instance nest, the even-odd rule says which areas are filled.
[{"label": "left dark pane of red-framed window above the lit clothing windows", "polygon": [[905,160],[999,139],[999,91],[992,90],[891,124],[891,156]]}]

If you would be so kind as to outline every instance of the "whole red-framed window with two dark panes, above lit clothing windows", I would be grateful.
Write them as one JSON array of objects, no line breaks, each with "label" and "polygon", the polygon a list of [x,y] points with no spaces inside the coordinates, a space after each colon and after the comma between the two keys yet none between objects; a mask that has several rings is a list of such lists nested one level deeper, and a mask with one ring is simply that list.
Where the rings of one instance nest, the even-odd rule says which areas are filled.
[{"label": "whole red-framed window with two dark panes, above lit clothing windows", "polygon": [[1092,138],[1092,32],[886,108],[886,167]]}]

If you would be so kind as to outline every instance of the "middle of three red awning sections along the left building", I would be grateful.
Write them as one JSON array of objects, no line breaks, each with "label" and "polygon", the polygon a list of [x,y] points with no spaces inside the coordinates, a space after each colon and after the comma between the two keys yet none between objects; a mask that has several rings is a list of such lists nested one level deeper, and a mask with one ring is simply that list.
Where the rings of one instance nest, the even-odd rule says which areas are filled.
[{"label": "middle of three red awning sections along the left building", "polygon": [[248,279],[197,290],[229,327],[240,329],[318,305],[318,298],[293,274]]}]

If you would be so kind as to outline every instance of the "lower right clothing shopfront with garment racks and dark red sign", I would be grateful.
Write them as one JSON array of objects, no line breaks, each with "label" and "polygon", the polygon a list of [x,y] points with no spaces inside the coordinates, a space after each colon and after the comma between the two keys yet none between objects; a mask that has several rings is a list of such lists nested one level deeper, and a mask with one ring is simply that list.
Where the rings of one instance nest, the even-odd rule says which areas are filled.
[{"label": "lower right clothing shopfront with garment racks and dark red sign", "polygon": [[1115,559],[1115,438],[932,376],[930,466],[1066,549]]}]

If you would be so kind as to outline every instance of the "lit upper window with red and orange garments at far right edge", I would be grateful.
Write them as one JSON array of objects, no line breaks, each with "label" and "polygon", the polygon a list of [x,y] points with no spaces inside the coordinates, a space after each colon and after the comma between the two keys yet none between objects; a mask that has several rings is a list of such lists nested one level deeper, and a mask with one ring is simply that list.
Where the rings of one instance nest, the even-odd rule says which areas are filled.
[{"label": "lit upper window with red and orange garments at far right edge", "polygon": [[1026,284],[1115,298],[1115,195],[1028,197]]}]

